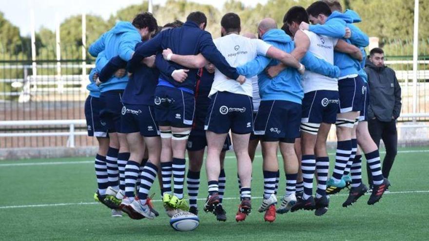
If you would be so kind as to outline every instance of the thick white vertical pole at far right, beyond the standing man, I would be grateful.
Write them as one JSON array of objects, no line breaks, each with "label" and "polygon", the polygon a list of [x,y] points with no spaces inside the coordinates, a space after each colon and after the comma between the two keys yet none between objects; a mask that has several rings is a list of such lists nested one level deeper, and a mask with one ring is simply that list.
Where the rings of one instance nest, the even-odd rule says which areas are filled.
[{"label": "thick white vertical pole at far right, beyond the standing man", "polygon": [[[412,51],[412,112],[417,113],[417,71],[419,55],[419,0],[414,0],[414,39]],[[414,117],[413,122],[416,121]]]}]

